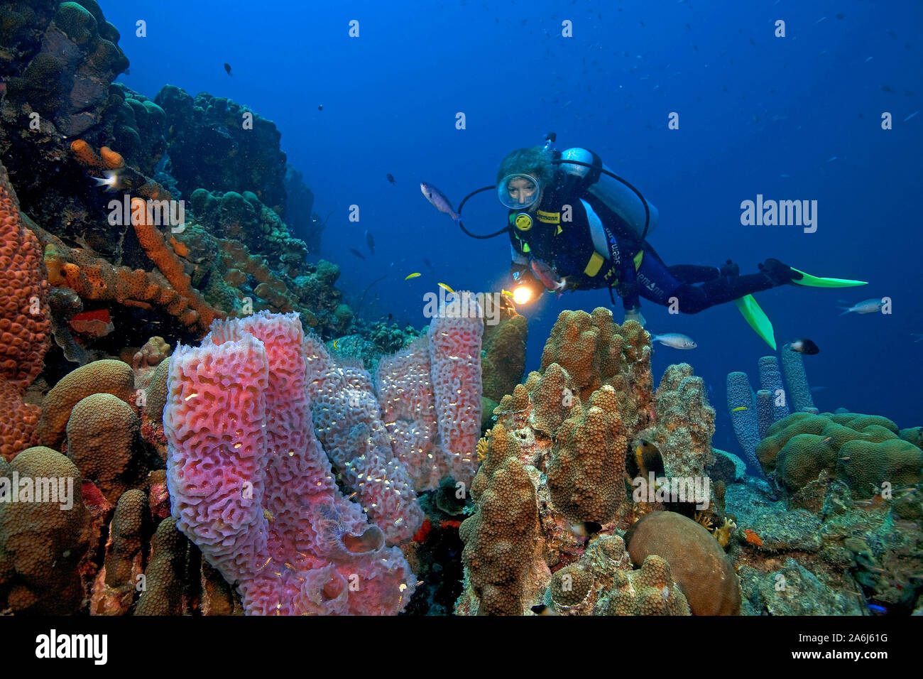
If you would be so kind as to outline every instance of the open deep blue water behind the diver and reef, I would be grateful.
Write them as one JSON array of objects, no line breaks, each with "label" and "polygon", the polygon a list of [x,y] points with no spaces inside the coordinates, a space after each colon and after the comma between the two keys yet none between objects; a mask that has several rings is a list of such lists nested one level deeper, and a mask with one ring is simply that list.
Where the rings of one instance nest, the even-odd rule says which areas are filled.
[{"label": "open deep blue water behind the diver and reef", "polygon": [[[869,281],[756,297],[780,348],[797,337],[821,347],[805,357],[821,410],[844,406],[900,427],[921,424],[923,342],[913,334],[923,333],[919,2],[101,5],[122,33],[131,67],[119,79],[129,87],[150,98],[165,84],[208,91],[276,123],[289,163],[315,194],[314,210],[332,212],[311,257],[340,265],[338,286],[354,307],[387,274],[369,290],[363,319],[392,314],[419,328],[423,295],[437,282],[509,288],[508,237],[464,236],[419,184],[431,182],[457,206],[495,182],[507,152],[554,131],[557,148],[592,149],[657,207],[649,240],[667,264],[731,258],[753,273],[774,257]],[[147,21],[147,37],[136,36],[138,19]],[[358,37],[349,35],[352,20]],[[779,20],[785,37],[775,35]],[[562,37],[564,21],[572,37]],[[678,129],[668,128],[674,112]],[[817,230],[742,225],[741,202],[760,194],[817,200]],[[349,219],[353,205],[358,222]],[[506,215],[490,192],[463,211],[478,233],[502,228]],[[423,275],[404,280],[414,272]],[[893,313],[839,315],[838,300],[869,297],[890,297]],[[546,295],[520,309],[529,319],[528,370],[538,368],[561,310],[609,304],[600,290]],[[682,316],[652,302],[642,309],[651,332],[686,333],[698,343],[691,351],[656,345],[655,379],[670,363],[692,364],[711,387],[715,446],[736,451],[725,375],[746,370],[759,388],[757,360],[769,347],[734,305]],[[615,315],[621,321],[620,304]]]}]

